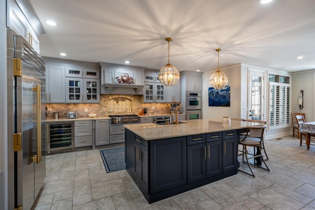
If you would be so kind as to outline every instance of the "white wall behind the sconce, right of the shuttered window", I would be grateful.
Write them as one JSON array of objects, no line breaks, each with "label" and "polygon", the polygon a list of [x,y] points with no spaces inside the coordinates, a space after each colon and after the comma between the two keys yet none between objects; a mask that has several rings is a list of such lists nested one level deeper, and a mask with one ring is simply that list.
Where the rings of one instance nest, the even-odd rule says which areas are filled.
[{"label": "white wall behind the sconce, right of the shuttered window", "polygon": [[[315,70],[292,74],[291,111],[305,113],[306,121],[315,121]],[[304,107],[297,105],[297,97],[304,91]]]}]

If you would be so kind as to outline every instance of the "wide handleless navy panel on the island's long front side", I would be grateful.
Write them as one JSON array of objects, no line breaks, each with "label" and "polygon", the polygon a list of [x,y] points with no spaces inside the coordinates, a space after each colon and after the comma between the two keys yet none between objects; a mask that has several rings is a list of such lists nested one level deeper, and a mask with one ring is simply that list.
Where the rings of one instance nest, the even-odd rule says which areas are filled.
[{"label": "wide handleless navy panel on the island's long front side", "polygon": [[187,184],[186,137],[150,141],[150,193]]}]

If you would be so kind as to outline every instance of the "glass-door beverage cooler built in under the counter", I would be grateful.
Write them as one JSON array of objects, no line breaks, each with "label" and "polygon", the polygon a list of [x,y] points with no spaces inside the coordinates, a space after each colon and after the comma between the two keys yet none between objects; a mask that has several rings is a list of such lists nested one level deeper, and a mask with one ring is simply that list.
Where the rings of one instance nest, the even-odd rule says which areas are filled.
[{"label": "glass-door beverage cooler built in under the counter", "polygon": [[60,121],[47,123],[47,152],[74,150],[74,123]]}]

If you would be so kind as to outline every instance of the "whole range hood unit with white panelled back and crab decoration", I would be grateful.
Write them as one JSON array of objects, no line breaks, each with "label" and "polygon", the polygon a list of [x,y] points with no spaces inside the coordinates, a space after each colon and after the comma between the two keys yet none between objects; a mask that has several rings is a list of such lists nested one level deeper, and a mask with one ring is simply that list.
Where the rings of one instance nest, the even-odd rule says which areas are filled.
[{"label": "whole range hood unit with white panelled back and crab decoration", "polygon": [[99,62],[104,94],[141,94],[145,67]]}]

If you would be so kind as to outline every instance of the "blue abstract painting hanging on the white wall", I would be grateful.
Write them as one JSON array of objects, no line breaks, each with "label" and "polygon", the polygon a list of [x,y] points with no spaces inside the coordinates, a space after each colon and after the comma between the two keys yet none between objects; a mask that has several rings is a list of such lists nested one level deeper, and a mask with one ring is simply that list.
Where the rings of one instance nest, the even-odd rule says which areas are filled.
[{"label": "blue abstract painting hanging on the white wall", "polygon": [[209,106],[230,106],[230,86],[221,90],[209,88]]}]

